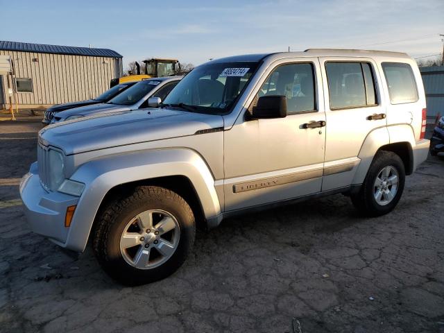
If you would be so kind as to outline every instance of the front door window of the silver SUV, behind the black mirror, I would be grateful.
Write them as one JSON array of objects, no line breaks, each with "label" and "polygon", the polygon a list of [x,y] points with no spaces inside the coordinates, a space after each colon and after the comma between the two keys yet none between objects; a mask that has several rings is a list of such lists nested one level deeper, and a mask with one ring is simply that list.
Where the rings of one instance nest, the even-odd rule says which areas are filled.
[{"label": "front door window of the silver SUV, behind the black mirror", "polygon": [[287,112],[315,110],[313,65],[287,64],[273,70],[257,93],[262,96],[285,96]]}]

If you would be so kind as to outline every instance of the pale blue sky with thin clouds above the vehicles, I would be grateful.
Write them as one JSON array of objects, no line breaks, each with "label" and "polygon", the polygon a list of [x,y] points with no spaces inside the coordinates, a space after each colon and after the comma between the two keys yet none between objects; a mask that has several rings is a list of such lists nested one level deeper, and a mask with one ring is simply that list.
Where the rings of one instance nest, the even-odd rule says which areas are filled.
[{"label": "pale blue sky with thin clouds above the vehicles", "polygon": [[442,52],[444,0],[8,1],[0,40],[89,46],[199,65],[243,53],[336,47]]}]

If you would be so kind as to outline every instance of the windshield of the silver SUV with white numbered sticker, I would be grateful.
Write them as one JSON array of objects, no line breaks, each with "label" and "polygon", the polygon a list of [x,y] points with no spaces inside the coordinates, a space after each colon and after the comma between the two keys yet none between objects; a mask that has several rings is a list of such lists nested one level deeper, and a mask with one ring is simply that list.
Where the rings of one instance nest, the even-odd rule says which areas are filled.
[{"label": "windshield of the silver SUV with white numbered sticker", "polygon": [[257,65],[258,62],[209,62],[196,67],[180,80],[163,104],[191,105],[196,112],[212,114],[228,112]]}]

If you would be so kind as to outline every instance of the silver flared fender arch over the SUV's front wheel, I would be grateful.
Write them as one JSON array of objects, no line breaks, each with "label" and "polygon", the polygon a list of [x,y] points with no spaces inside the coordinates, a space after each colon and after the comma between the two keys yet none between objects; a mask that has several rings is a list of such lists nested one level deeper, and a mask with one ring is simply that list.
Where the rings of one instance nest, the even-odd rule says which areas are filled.
[{"label": "silver flared fender arch over the SUV's front wheel", "polygon": [[191,149],[156,149],[103,157],[83,164],[71,176],[71,180],[85,183],[85,190],[69,228],[69,248],[85,250],[97,210],[110,189],[165,176],[185,176],[191,181],[206,219],[221,213],[212,173],[203,158]]}]

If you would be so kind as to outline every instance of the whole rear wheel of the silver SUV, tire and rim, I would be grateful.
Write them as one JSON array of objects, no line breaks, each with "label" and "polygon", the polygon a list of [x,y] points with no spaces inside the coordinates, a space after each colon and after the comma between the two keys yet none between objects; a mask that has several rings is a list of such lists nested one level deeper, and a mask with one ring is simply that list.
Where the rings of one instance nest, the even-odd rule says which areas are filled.
[{"label": "whole rear wheel of the silver SUV, tire and rim", "polygon": [[404,190],[404,163],[391,151],[379,151],[368,169],[360,191],[351,196],[357,210],[366,216],[391,212]]}]

